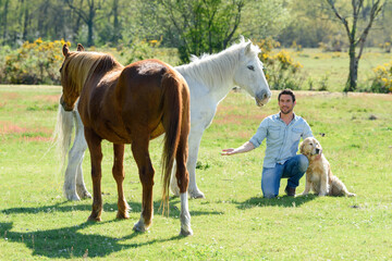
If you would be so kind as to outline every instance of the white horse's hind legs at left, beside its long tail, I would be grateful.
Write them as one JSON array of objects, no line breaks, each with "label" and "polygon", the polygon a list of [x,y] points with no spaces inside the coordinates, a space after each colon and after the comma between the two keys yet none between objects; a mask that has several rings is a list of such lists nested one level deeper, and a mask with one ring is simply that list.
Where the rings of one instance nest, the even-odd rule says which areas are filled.
[{"label": "white horse's hind legs at left, beside its long tail", "polygon": [[91,198],[91,195],[86,189],[82,171],[82,163],[84,152],[87,149],[87,144],[84,137],[84,127],[81,116],[77,112],[73,113],[76,122],[76,134],[73,146],[69,152],[69,163],[64,178],[64,192],[69,200],[81,200],[81,198]]}]

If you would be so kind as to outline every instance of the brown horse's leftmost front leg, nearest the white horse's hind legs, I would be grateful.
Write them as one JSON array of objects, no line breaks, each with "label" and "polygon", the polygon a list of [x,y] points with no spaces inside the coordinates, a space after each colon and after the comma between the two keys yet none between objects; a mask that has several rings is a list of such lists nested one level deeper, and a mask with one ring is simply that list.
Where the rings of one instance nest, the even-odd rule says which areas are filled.
[{"label": "brown horse's leftmost front leg, nearest the white horse's hind legs", "polygon": [[91,158],[91,178],[93,178],[93,210],[88,220],[100,221],[102,213],[102,196],[101,196],[101,138],[89,128],[85,128],[86,141]]}]

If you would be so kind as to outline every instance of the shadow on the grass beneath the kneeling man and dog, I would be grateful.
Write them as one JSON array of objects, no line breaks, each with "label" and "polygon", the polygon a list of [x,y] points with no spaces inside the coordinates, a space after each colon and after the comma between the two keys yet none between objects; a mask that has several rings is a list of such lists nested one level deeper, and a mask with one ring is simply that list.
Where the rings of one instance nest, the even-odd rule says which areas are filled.
[{"label": "shadow on the grass beneath the kneeling man and dog", "polygon": [[278,198],[250,198],[245,200],[244,202],[234,202],[237,204],[238,209],[250,209],[255,207],[283,207],[283,208],[295,208],[299,207],[310,200],[314,200],[316,195],[307,195],[307,196],[298,196],[298,197],[278,197]]}]

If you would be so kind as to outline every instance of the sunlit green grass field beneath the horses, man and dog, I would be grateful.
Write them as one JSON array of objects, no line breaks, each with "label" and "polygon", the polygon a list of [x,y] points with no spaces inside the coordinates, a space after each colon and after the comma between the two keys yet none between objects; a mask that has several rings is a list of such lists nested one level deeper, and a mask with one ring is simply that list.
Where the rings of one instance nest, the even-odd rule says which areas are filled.
[{"label": "sunlit green grass field beneath the horses, man and dog", "polygon": [[[265,145],[246,154],[221,157],[278,112],[277,92],[257,108],[231,92],[204,135],[197,181],[206,199],[191,200],[194,236],[179,237],[179,198],[170,215],[160,206],[161,139],[150,152],[156,174],[152,227],[132,231],[142,188],[127,147],[125,196],[130,220],[115,220],[112,148],[103,144],[102,222],[87,222],[91,200],[70,202],[51,148],[57,86],[0,86],[0,260],[391,260],[391,95],[297,92],[295,111],[310,124],[333,173],[355,198],[261,197]],[[371,120],[372,119],[372,120]],[[320,134],[323,134],[322,136]],[[91,191],[89,154],[85,181]],[[297,192],[304,189],[304,179]]]}]

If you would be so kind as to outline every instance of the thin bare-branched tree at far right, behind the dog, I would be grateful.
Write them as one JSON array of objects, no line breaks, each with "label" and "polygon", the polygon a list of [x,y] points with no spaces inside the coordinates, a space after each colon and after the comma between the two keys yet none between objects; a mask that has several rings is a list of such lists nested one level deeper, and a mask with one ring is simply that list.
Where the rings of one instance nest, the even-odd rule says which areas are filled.
[{"label": "thin bare-branched tree at far right, behind the dog", "polygon": [[[370,32],[370,28],[377,15],[384,7],[387,0],[384,2],[382,2],[381,0],[372,0],[371,3],[368,2],[369,5],[367,7],[367,9],[369,10],[369,12],[367,15],[366,15],[367,12],[364,12],[365,11],[364,0],[352,0],[353,16],[351,18],[352,21],[351,27],[348,24],[348,18],[341,15],[341,13],[338,11],[335,7],[335,1],[327,0],[327,2],[331,7],[336,17],[342,22],[348,37],[350,71],[348,71],[348,78],[344,91],[354,91],[357,88],[359,59],[362,57],[365,47],[366,38]],[[360,34],[359,37],[357,37],[358,22],[360,18],[367,21],[365,22],[366,25],[363,33]],[[356,53],[357,47],[359,48],[358,54]]]}]

